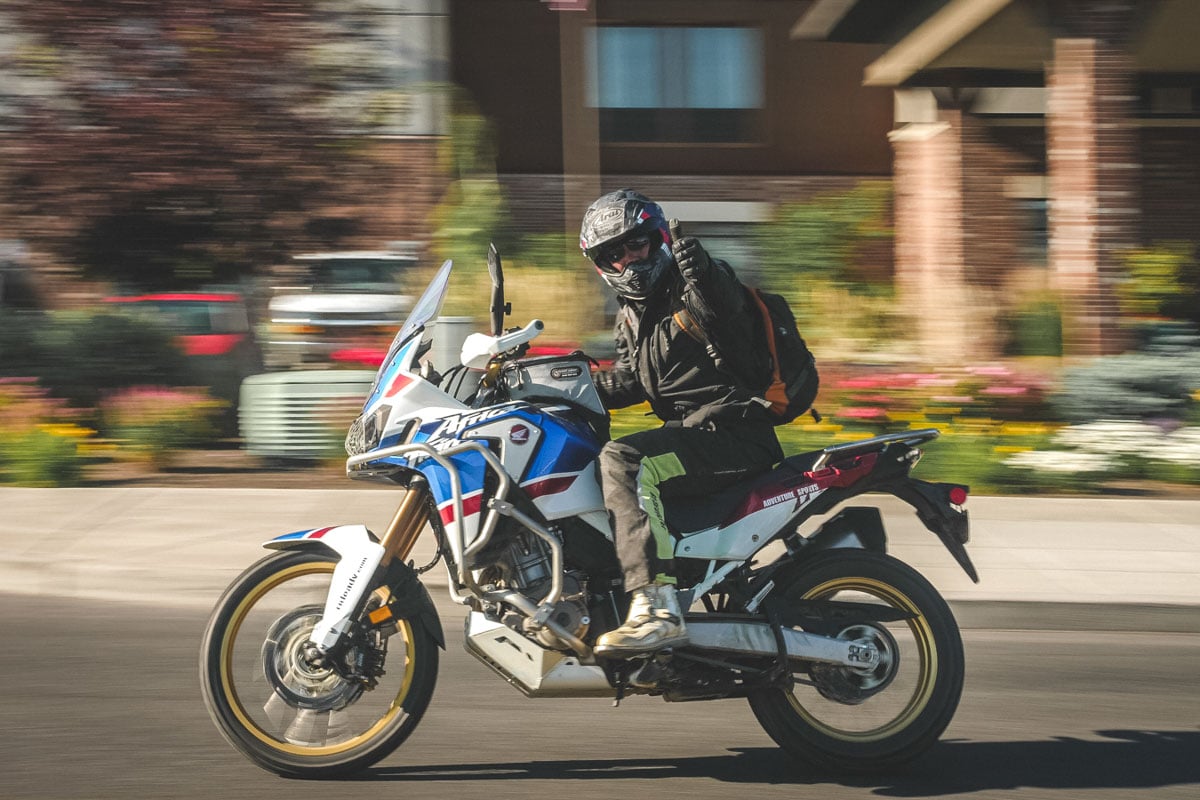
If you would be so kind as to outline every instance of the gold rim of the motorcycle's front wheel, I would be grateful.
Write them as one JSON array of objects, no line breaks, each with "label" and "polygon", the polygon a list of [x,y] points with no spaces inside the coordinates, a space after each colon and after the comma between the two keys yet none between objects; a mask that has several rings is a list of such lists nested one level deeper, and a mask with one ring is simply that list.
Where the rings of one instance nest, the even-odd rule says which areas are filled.
[{"label": "gold rim of the motorcycle's front wheel", "polygon": [[[264,595],[278,587],[281,583],[300,578],[306,575],[316,575],[320,572],[331,573],[335,566],[336,565],[332,561],[310,561],[307,564],[298,564],[276,572],[268,581],[264,581],[254,587],[254,589],[250,591],[240,603],[238,603],[238,607],[229,616],[229,624],[226,626],[224,636],[221,638],[221,687],[229,703],[229,710],[233,711],[238,722],[241,723],[242,729],[248,732],[252,736],[269,747],[284,753],[290,753],[293,756],[336,756],[365,744],[378,735],[380,730],[391,724],[391,722],[403,712],[404,700],[408,698],[408,691],[413,684],[415,660],[412,655],[409,655],[404,660],[404,678],[401,681],[400,690],[396,692],[396,697],[392,698],[391,704],[388,706],[388,710],[383,714],[383,716],[380,716],[374,724],[362,733],[352,736],[346,741],[337,742],[336,745],[304,747],[300,745],[293,745],[288,741],[281,741],[264,730],[262,726],[254,722],[250,715],[246,714],[246,709],[242,705],[241,698],[238,697],[238,690],[233,682],[233,643],[238,638],[238,632],[241,630],[241,624],[245,621],[246,615],[254,607],[254,603],[257,603]],[[412,654],[414,642],[413,628],[408,620],[397,620],[397,622],[400,625],[398,634],[403,637],[407,650]]]}]

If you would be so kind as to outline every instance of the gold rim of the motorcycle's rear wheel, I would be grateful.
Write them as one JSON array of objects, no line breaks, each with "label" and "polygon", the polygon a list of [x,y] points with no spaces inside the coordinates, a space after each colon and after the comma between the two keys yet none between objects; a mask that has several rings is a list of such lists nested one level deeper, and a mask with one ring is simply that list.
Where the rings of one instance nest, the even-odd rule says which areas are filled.
[{"label": "gold rim of the motorcycle's rear wheel", "polygon": [[791,704],[792,710],[800,716],[800,718],[827,736],[856,744],[880,741],[908,727],[925,709],[925,706],[929,705],[929,699],[934,694],[934,685],[937,682],[938,669],[937,649],[934,646],[934,630],[930,626],[929,620],[925,619],[924,614],[920,613],[920,609],[917,608],[917,604],[907,595],[898,590],[895,587],[874,578],[834,578],[814,587],[804,594],[803,599],[822,600],[830,597],[839,591],[860,591],[874,595],[880,600],[886,600],[893,603],[898,608],[916,614],[916,618],[906,620],[906,622],[908,625],[908,630],[912,632],[913,639],[916,640],[918,662],[920,664],[920,679],[917,682],[917,687],[905,708],[889,722],[877,728],[863,732],[844,730],[817,720],[809,712],[808,709],[804,708],[804,705],[797,699],[796,694],[791,691],[786,692],[787,702]]}]

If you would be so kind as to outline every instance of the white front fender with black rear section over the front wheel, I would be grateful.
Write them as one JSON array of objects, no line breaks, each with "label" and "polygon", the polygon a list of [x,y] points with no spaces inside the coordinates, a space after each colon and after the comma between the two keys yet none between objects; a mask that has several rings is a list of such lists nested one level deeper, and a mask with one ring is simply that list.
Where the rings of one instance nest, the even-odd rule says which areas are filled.
[{"label": "white front fender with black rear section over the front wheel", "polygon": [[[272,551],[319,549],[340,559],[340,569],[335,570],[334,583],[330,587],[326,619],[322,620],[324,626],[318,626],[317,631],[322,636],[328,634],[338,621],[344,620],[344,614],[340,612],[346,610],[346,600],[349,597],[344,591],[334,591],[335,584],[344,587],[348,582],[352,584],[360,583],[356,590],[349,593],[354,597],[359,597],[368,585],[376,587],[379,583],[385,583],[391,589],[392,600],[389,606],[392,608],[392,612],[400,618],[418,621],[433,637],[438,646],[445,650],[445,634],[442,631],[442,620],[438,618],[433,599],[430,597],[430,593],[421,584],[415,570],[397,559],[386,566],[382,581],[360,582],[356,578],[350,582],[350,575],[361,576],[364,570],[360,567],[352,572],[341,569],[343,564],[350,561],[355,565],[362,565],[362,567],[370,566],[372,573],[378,569],[383,557],[383,547],[374,541],[374,536],[365,525],[336,525],[331,528],[298,530],[263,542],[263,547]],[[366,559],[366,564],[362,564],[364,559]],[[341,602],[338,603],[337,601]],[[316,636],[313,640],[320,644],[320,639]]]}]

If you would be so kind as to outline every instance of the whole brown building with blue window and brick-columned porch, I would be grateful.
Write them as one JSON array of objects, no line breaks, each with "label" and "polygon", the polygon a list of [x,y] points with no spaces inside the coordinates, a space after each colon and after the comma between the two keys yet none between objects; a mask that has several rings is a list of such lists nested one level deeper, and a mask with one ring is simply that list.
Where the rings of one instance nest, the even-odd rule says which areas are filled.
[{"label": "whole brown building with blue window and brick-columned porch", "polygon": [[893,178],[895,277],[934,360],[997,354],[1000,312],[1048,295],[1069,353],[1118,350],[1122,252],[1200,240],[1194,0],[452,0],[450,18],[518,216],[570,228],[635,185],[736,249],[776,203]]}]

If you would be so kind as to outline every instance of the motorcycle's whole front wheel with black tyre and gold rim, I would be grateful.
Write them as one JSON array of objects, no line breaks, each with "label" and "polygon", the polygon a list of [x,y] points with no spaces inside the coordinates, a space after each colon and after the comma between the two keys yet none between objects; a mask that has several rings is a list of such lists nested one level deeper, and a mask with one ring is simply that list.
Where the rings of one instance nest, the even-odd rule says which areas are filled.
[{"label": "motorcycle's whole front wheel with black tyre and gold rim", "polygon": [[438,648],[416,620],[352,644],[347,661],[366,664],[373,687],[305,658],[334,566],[308,551],[264,558],[226,590],[204,632],[209,714],[234,747],[280,775],[334,777],[374,764],[413,732],[433,694]]}]

